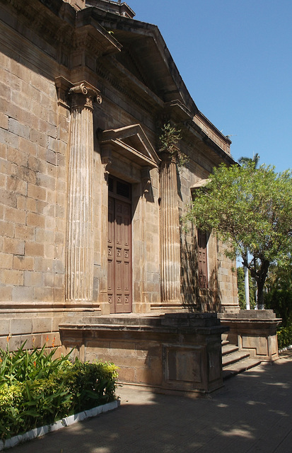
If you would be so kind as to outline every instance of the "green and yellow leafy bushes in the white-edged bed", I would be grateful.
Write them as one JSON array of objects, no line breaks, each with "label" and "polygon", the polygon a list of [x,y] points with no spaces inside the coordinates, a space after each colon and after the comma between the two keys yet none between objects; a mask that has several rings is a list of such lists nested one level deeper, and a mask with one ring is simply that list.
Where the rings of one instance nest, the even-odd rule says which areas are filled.
[{"label": "green and yellow leafy bushes in the white-edged bed", "polygon": [[0,438],[21,434],[115,399],[117,367],[74,364],[55,349],[0,349]]}]

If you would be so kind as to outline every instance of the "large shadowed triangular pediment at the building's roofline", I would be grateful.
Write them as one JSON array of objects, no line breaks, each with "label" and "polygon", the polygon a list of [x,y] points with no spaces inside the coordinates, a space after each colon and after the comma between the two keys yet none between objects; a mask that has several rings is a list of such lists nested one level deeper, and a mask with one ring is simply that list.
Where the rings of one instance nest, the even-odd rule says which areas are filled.
[{"label": "large shadowed triangular pediment at the building's roofline", "polygon": [[161,101],[178,100],[194,116],[198,109],[185,86],[173,57],[156,25],[93,8],[100,25],[119,42],[121,52],[112,56]]}]

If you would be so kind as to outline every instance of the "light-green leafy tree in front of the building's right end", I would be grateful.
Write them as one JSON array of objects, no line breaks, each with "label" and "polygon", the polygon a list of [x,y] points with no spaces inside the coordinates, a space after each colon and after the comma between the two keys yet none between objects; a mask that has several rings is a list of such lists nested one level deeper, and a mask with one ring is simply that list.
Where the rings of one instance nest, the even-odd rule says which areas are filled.
[{"label": "light-green leafy tree in front of the building's right end", "polygon": [[226,255],[241,256],[257,284],[257,304],[264,306],[264,282],[272,263],[285,266],[292,250],[292,174],[255,162],[214,168],[198,190],[186,218],[216,232],[228,243]]}]

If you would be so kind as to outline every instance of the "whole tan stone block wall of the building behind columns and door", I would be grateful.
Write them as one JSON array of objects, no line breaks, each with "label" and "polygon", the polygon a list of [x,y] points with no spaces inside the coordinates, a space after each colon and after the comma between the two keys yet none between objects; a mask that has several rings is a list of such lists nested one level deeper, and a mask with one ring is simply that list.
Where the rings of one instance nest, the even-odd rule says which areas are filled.
[{"label": "whole tan stone block wall of the building behind columns and door", "polygon": [[[50,11],[51,7],[54,11]],[[145,91],[142,82],[135,79],[128,69],[121,72],[119,57],[110,65],[111,57],[107,50],[116,52],[117,49],[114,44],[111,48],[105,47],[110,46],[112,37],[105,37],[97,28],[90,28],[89,33],[86,21],[83,23],[86,38],[84,42],[79,41],[78,35],[76,42],[80,49],[73,49],[68,37],[74,35],[76,14],[69,4],[57,0],[53,3],[32,0],[29,9],[25,9],[20,0],[1,3],[1,345],[6,344],[9,335],[12,335],[9,342],[13,347],[25,339],[28,339],[28,344],[33,341],[41,346],[46,341],[54,341],[59,345],[58,324],[65,315],[78,316],[86,310],[100,314],[100,306],[105,308],[107,171],[132,184],[133,309],[136,313],[151,311],[153,307],[160,309],[161,194],[158,166],[146,175],[141,166],[114,152],[112,164],[106,168],[98,134],[139,123],[157,151],[158,122],[165,113],[164,101],[150,88]],[[80,27],[85,16],[80,16]],[[35,18],[38,20],[33,21]],[[63,34],[60,35],[59,30]],[[96,55],[92,55],[95,47],[90,45],[93,43],[97,46]],[[107,57],[100,58],[103,52]],[[78,64],[74,67],[76,62]],[[122,73],[124,76],[120,80]],[[64,98],[57,91],[57,78],[63,78],[69,84]],[[69,86],[84,79],[100,91],[103,98],[102,104],[93,105],[93,300],[65,301],[70,143],[68,93]],[[202,139],[186,130],[180,146],[190,157],[184,167],[177,169],[177,202],[180,214],[183,214],[185,205],[191,200],[190,187],[208,176],[214,164],[214,154],[209,155]],[[210,277],[215,277],[210,292],[203,297],[202,293],[196,292],[194,278],[195,236],[195,231],[189,231],[185,236],[182,234],[182,300],[175,301],[175,307],[213,309],[208,301],[214,298],[216,289],[216,244],[214,238],[209,241],[208,272]],[[221,261],[223,263],[223,258]],[[230,263],[224,262],[221,268],[230,273]],[[218,280],[222,297],[232,299],[234,288],[224,282],[223,272],[218,273]],[[199,298],[204,303],[198,302]]]}]

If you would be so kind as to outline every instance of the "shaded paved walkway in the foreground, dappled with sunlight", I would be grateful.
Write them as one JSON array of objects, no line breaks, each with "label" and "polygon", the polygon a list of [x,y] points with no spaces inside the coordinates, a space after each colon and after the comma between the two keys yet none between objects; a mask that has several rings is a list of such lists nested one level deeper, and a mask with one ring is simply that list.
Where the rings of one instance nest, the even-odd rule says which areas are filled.
[{"label": "shaded paved walkway in the foreground, dappled with sunlight", "polygon": [[229,379],[208,398],[124,386],[121,407],[11,453],[291,453],[292,351]]}]

